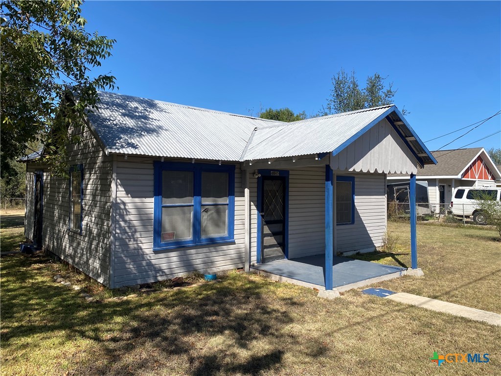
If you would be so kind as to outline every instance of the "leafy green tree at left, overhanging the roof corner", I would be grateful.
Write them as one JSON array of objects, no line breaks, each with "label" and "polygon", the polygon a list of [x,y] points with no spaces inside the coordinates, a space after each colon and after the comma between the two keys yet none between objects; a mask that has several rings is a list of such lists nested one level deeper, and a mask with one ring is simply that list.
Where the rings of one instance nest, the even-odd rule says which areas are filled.
[{"label": "leafy green tree at left, overhanging the roof corner", "polygon": [[111,56],[116,41],[85,31],[82,3],[1,3],[3,173],[38,139],[53,172],[64,174],[66,148],[78,141],[70,139],[68,127],[83,127],[86,111],[98,103],[98,90],[114,88],[114,76],[91,77],[90,72]]}]

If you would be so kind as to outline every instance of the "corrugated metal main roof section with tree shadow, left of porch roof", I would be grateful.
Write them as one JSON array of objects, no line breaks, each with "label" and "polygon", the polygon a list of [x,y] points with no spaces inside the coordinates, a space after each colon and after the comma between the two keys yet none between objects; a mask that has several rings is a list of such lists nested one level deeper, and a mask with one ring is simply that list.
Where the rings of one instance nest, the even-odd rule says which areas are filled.
[{"label": "corrugated metal main roof section with tree shadow, left of porch roof", "polygon": [[100,92],[89,121],[109,153],[237,161],[254,129],[272,121]]}]

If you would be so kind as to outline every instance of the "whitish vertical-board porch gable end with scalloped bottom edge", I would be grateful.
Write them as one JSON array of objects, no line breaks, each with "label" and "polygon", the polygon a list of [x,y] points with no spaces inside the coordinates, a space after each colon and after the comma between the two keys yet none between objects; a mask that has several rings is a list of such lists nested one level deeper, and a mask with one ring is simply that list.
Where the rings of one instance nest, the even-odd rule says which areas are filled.
[{"label": "whitish vertical-board porch gable end with scalloped bottom edge", "polygon": [[379,173],[416,173],[417,160],[383,119],[331,158],[331,167]]}]

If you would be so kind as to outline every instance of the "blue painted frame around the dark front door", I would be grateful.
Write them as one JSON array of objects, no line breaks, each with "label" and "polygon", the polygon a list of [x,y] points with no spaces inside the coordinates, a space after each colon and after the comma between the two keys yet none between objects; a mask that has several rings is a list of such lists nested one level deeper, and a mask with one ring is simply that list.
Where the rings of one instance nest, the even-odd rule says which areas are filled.
[{"label": "blue painted frame around the dark front door", "polygon": [[[272,171],[275,173],[278,171],[278,175],[272,175]],[[260,169],[258,173],[261,175],[258,177],[258,237],[256,241],[256,263],[261,264],[261,243],[263,238],[263,218],[260,213],[263,210],[263,176],[279,176],[285,177],[285,200],[284,200],[284,210],[285,210],[285,221],[284,221],[284,253],[285,258],[289,259],[289,171],[288,170],[272,170],[272,169]]]}]

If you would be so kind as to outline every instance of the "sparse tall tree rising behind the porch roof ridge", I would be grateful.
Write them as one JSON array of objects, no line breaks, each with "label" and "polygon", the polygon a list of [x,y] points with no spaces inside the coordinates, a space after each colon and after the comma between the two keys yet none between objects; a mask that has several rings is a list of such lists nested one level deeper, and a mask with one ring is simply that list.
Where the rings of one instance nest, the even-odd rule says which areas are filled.
[{"label": "sparse tall tree rising behind the porch roof ridge", "polygon": [[[360,88],[355,71],[348,74],[343,68],[332,77],[331,94],[327,104],[322,107],[318,116],[332,115],[341,112],[356,111],[363,108],[385,106],[393,103],[397,90],[393,83],[386,86],[386,77],[379,73],[368,76],[365,87]],[[405,110],[402,110],[405,113]]]}]

